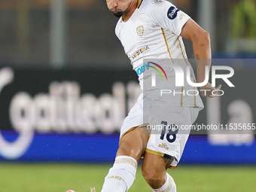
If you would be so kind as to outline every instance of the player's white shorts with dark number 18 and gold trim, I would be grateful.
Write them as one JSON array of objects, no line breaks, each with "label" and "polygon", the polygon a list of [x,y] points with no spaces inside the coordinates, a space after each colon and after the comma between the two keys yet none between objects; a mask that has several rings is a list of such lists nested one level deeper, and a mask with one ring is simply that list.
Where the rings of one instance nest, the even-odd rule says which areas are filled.
[{"label": "player's white shorts with dark number 18 and gold trim", "polygon": [[170,166],[175,167],[190,133],[190,130],[182,130],[182,127],[193,124],[199,111],[199,108],[175,107],[161,101],[142,99],[141,95],[124,119],[120,138],[142,126],[151,130],[146,151],[173,159]]}]

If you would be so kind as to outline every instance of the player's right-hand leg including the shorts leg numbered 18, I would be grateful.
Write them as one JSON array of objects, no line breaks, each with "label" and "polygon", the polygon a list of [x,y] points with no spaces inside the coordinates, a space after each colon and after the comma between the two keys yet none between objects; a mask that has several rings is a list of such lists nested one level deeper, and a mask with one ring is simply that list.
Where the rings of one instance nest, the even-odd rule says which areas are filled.
[{"label": "player's right-hand leg including the shorts leg numbered 18", "polygon": [[[155,108],[157,108],[157,105]],[[160,125],[165,122],[169,126],[164,128],[160,126],[163,129],[151,130],[151,136],[148,140],[142,163],[142,175],[153,191],[176,192],[175,182],[166,172],[166,169],[169,166],[177,166],[178,161],[181,159],[190,133],[190,130],[182,129],[182,125],[194,123],[199,109],[169,107],[164,112],[157,114],[152,111],[151,115],[154,117],[154,119],[152,118],[154,121],[150,122],[151,125]]]}]

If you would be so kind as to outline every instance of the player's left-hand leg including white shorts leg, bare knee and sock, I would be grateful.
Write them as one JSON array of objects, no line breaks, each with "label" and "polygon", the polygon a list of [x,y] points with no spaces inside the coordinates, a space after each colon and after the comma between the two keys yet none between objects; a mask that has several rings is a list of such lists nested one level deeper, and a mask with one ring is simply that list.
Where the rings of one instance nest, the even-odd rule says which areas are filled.
[{"label": "player's left-hand leg including white shorts leg, bare knee and sock", "polygon": [[123,121],[117,156],[105,177],[102,192],[125,192],[133,184],[139,159],[145,153],[149,138],[147,133],[143,133],[143,126],[141,95]]}]

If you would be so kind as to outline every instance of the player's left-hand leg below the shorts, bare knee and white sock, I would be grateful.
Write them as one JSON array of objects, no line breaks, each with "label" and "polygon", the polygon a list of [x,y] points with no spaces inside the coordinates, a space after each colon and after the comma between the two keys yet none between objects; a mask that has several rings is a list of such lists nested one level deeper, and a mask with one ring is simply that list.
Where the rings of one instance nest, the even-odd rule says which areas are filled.
[{"label": "player's left-hand leg below the shorts, bare knee and white sock", "polygon": [[142,127],[128,131],[120,138],[117,156],[105,177],[102,192],[125,192],[132,186],[147,142],[148,134],[143,133]]}]

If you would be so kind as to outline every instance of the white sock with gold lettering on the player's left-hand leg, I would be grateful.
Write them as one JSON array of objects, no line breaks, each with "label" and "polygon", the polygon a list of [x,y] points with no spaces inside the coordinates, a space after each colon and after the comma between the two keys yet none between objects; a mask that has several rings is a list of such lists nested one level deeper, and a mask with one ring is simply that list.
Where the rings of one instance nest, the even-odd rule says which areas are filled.
[{"label": "white sock with gold lettering on the player's left-hand leg", "polygon": [[109,169],[102,192],[126,192],[135,180],[137,161],[133,157],[118,156]]}]

